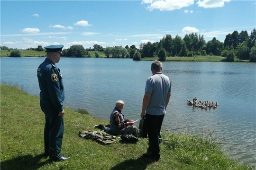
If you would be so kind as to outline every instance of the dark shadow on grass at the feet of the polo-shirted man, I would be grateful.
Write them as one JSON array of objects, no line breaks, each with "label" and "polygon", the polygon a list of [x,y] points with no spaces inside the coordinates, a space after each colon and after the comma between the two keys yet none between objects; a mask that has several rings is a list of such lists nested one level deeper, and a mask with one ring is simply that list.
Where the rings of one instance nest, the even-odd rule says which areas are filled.
[{"label": "dark shadow on grass at the feet of the polo-shirted man", "polygon": [[115,167],[110,170],[146,170],[147,166],[153,163],[154,160],[147,159],[143,156],[138,159],[129,159],[117,164]]}]

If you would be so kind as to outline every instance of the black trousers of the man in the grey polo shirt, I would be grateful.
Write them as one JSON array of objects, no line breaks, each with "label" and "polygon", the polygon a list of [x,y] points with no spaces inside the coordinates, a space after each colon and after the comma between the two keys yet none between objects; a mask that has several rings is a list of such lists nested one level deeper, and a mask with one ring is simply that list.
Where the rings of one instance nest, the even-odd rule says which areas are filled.
[{"label": "black trousers of the man in the grey polo shirt", "polygon": [[149,149],[153,155],[160,154],[159,135],[165,115],[155,116],[146,113],[146,128],[149,141]]}]

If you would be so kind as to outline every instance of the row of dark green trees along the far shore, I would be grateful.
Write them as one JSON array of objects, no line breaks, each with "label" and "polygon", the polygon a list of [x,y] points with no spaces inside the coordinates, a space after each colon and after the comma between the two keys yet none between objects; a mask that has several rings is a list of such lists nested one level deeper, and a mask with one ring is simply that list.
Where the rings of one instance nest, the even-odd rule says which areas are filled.
[{"label": "row of dark green trees along the far shore", "polygon": [[[1,50],[9,50],[6,46],[1,46]],[[38,45],[37,48],[29,48],[27,50],[44,51],[43,47]],[[203,35],[197,33],[185,34],[184,38],[178,34],[172,37],[166,34],[159,42],[141,43],[139,48],[135,45],[125,47],[114,46],[103,48],[99,44],[94,44],[93,48],[85,49],[82,45],[72,45],[68,49],[63,50],[64,57],[91,57],[94,51],[96,57],[100,57],[99,51],[104,52],[107,58],[131,58],[140,60],[141,58],[156,57],[161,61],[165,61],[166,57],[193,57],[193,56],[222,56],[227,61],[238,59],[247,59],[256,62],[256,28],[250,35],[247,31],[234,31],[232,34],[226,35],[224,42],[220,42],[213,37],[212,40],[206,42]],[[17,55],[18,50],[12,51]]]}]

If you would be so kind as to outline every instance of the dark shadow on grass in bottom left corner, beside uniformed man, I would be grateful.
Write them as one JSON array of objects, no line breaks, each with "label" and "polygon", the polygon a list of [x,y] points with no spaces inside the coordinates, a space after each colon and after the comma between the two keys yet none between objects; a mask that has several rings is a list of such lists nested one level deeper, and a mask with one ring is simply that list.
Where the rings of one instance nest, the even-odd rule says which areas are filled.
[{"label": "dark shadow on grass in bottom left corner, beside uniformed man", "polygon": [[45,158],[44,154],[39,154],[37,156],[24,155],[17,158],[13,158],[8,161],[1,161],[1,170],[37,170],[44,165],[49,163],[49,160],[41,160]]}]

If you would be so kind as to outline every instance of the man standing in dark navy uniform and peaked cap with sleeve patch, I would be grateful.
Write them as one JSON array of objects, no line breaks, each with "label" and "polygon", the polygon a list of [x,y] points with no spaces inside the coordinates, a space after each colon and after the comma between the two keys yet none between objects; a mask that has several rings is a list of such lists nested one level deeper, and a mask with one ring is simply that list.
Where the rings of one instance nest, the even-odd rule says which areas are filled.
[{"label": "man standing in dark navy uniform and peaked cap with sleeve patch", "polygon": [[55,66],[55,63],[59,62],[63,47],[64,45],[44,47],[47,56],[37,69],[40,106],[46,116],[45,155],[49,155],[50,161],[65,161],[70,158],[60,154],[64,133],[64,86],[60,69]]}]

